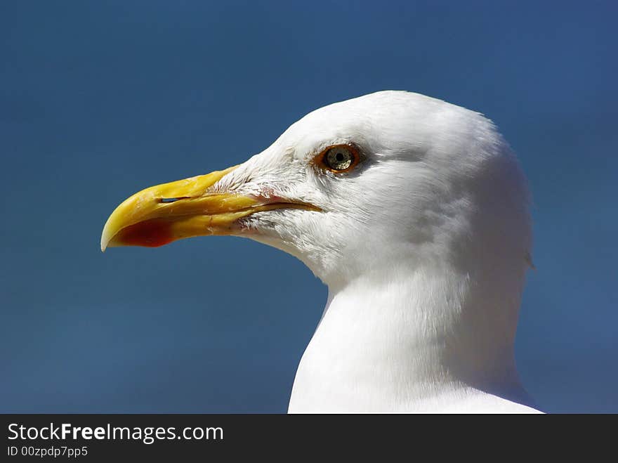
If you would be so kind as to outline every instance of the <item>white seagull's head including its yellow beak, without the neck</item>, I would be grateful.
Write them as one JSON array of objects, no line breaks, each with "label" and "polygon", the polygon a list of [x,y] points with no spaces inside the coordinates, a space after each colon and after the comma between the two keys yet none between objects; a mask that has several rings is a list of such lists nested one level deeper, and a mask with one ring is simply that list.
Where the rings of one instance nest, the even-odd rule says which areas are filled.
[{"label": "white seagull's head including its yellow beak, without the neck", "polygon": [[243,164],[136,193],[101,249],[237,235],[296,256],[329,287],[397,266],[472,274],[500,261],[522,275],[527,207],[489,119],[381,91],[310,112]]}]

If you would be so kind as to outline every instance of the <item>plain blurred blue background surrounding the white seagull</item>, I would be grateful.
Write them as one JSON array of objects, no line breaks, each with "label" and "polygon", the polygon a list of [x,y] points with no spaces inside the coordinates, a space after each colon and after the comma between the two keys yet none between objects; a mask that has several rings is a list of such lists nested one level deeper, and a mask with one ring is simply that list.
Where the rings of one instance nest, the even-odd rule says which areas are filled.
[{"label": "plain blurred blue background surrounding the white seagull", "polygon": [[618,412],[618,7],[4,1],[0,412],[284,412],[327,289],[235,237],[110,249],[126,196],[382,89],[478,110],[534,195],[516,344],[549,412]]}]

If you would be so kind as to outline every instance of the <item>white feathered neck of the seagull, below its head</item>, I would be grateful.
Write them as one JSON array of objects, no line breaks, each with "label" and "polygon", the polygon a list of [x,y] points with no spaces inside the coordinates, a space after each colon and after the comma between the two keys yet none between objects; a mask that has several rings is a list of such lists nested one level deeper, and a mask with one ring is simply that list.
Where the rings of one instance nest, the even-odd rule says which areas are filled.
[{"label": "white feathered neck of the seagull, below its head", "polygon": [[329,287],[290,411],[433,411],[474,393],[525,403],[513,358],[519,280],[384,266]]}]

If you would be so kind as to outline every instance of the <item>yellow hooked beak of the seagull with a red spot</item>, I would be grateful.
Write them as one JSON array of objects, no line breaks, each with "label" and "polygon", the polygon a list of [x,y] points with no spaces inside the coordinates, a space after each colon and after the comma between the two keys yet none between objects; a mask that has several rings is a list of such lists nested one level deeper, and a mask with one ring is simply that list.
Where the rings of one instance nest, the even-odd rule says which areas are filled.
[{"label": "yellow hooked beak of the seagull with a red spot", "polygon": [[236,168],[152,186],[127,198],[105,223],[101,251],[115,246],[157,247],[193,236],[233,235],[241,231],[238,219],[258,211],[320,210],[281,198],[208,193],[209,187]]}]

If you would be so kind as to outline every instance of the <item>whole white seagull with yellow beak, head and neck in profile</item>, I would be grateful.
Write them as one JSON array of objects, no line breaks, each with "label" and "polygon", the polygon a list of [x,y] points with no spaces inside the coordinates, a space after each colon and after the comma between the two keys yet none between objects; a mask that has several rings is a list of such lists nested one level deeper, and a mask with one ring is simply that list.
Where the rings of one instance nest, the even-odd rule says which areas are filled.
[{"label": "whole white seagull with yellow beak, head and neck in profile", "polygon": [[243,164],[122,202],[101,250],[235,235],[328,287],[290,413],[532,413],[513,346],[530,194],[494,124],[407,91],[321,107]]}]

